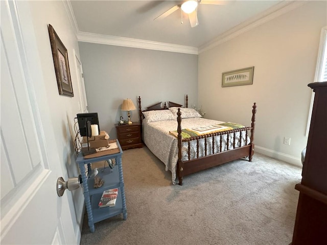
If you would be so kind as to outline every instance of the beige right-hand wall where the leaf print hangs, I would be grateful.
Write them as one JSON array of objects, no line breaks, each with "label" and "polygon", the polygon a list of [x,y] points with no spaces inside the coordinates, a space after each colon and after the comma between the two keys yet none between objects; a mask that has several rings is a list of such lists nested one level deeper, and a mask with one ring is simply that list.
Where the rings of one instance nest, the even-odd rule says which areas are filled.
[{"label": "beige right-hand wall where the leaf print hangs", "polygon": [[[327,2],[307,4],[199,54],[199,103],[206,116],[250,124],[256,151],[300,165]],[[253,85],[221,87],[223,72],[254,66]],[[291,138],[291,145],[283,143]]]}]

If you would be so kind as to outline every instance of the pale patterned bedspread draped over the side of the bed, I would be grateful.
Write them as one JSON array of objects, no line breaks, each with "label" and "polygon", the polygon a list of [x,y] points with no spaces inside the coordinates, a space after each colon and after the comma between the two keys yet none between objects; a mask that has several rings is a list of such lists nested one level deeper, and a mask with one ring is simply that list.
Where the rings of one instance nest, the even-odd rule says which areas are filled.
[{"label": "pale patterned bedspread draped over the side of the bed", "polygon": [[[200,128],[207,127],[217,124],[222,124],[224,122],[204,119],[204,118],[184,118],[181,122],[182,128]],[[172,182],[176,184],[176,165],[178,160],[178,147],[177,139],[175,136],[170,134],[170,131],[175,131],[177,129],[177,121],[160,121],[143,123],[143,141],[147,147],[156,155],[160,161],[166,165],[166,171],[170,170],[172,172]],[[236,133],[236,145],[239,145],[240,133]],[[216,150],[220,148],[220,142],[217,136],[215,140],[215,153]],[[226,139],[227,136],[222,137],[222,151],[226,150]],[[233,137],[229,137],[229,149],[232,149]],[[247,142],[250,142],[248,139]],[[204,139],[199,140],[199,157],[204,156]],[[245,144],[245,133],[242,135],[241,145]],[[182,160],[188,160],[188,143],[182,142]],[[208,152],[212,151],[212,141],[207,141]],[[196,155],[196,142],[191,141],[191,159],[195,158]]]}]

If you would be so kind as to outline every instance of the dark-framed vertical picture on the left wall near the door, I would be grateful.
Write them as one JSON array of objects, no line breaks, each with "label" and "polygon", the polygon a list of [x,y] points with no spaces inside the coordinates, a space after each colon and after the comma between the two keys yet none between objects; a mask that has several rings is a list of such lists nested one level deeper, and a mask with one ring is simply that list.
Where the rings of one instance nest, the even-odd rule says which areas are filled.
[{"label": "dark-framed vertical picture on the left wall near the door", "polygon": [[48,26],[48,30],[59,95],[74,97],[71,72],[69,72],[67,49],[50,24]]}]

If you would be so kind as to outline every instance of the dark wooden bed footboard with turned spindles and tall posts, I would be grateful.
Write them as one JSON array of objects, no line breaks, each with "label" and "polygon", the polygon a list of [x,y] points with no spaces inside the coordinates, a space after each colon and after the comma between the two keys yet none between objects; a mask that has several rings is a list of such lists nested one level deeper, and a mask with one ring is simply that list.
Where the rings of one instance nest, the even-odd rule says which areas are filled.
[{"label": "dark wooden bed footboard with turned spindles and tall posts", "polygon": [[[252,106],[252,118],[251,127],[238,128],[228,131],[209,133],[207,135],[201,135],[188,139],[182,139],[181,136],[181,113],[180,109],[177,112],[177,141],[178,141],[178,161],[177,161],[177,176],[179,185],[182,185],[183,176],[211,168],[223,163],[227,163],[240,158],[248,157],[249,162],[252,161],[254,154],[254,127],[255,127],[255,114],[256,114],[256,103]],[[248,142],[248,131],[250,131],[250,137]],[[242,145],[242,141],[239,140],[239,145],[236,145],[236,135],[239,133],[239,138],[245,136],[245,144]],[[226,149],[222,149],[222,138],[226,137]],[[232,137],[232,145],[229,145],[229,137]],[[204,139],[204,154],[200,157],[199,155],[199,140]],[[219,140],[219,149],[215,149],[215,141]],[[190,153],[190,142],[196,142],[196,157],[191,159]],[[207,141],[212,141],[212,150],[207,149]],[[182,143],[187,142],[188,144],[188,160],[182,160]],[[218,142],[217,142],[218,143]]]}]

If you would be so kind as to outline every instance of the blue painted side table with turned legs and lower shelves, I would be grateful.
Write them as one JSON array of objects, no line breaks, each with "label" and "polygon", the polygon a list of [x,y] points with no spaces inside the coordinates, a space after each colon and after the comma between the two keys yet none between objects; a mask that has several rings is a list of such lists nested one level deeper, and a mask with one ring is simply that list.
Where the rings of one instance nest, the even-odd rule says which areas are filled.
[{"label": "blue painted side table with turned legs and lower shelves", "polygon": [[[103,155],[102,157],[84,159],[82,153],[80,152],[76,159],[82,175],[82,185],[90,232],[95,231],[94,224],[96,222],[110,218],[112,216],[123,213],[123,219],[127,219],[125,186],[122,167],[123,150],[119,141],[115,141],[119,148],[118,153]],[[111,169],[108,166],[108,162],[105,161],[112,159],[114,159],[115,165]],[[91,174],[91,163],[95,162],[104,162],[104,166],[106,166],[104,168],[98,168],[97,176],[101,177],[101,179],[105,181],[104,185],[100,188],[94,188],[94,176],[88,178],[88,176]],[[87,171],[85,170],[85,164],[87,164]],[[118,188],[118,197],[115,206],[99,208],[99,202],[103,191],[113,188]]]}]

